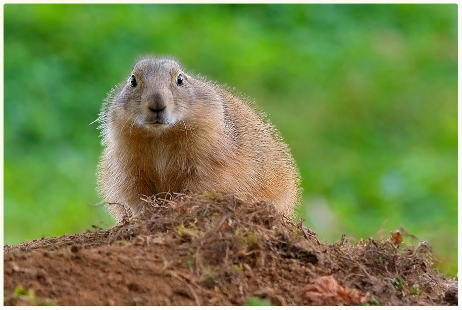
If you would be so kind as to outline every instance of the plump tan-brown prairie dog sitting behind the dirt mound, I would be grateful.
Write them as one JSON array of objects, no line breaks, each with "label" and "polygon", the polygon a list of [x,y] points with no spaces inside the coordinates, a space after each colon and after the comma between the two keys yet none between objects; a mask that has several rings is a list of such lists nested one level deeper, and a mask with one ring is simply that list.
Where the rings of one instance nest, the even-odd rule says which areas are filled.
[{"label": "plump tan-brown prairie dog sitting behind the dirt mound", "polygon": [[298,169],[271,123],[174,59],[138,61],[98,121],[98,189],[118,222],[145,208],[141,195],[184,189],[270,201],[288,216],[299,203]]}]

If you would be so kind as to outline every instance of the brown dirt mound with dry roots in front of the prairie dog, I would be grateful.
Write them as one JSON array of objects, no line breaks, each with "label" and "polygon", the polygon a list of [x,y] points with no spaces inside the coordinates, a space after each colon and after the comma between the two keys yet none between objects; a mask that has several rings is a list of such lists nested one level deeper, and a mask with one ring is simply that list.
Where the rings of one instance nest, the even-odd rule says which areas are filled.
[{"label": "brown dirt mound with dry roots in front of the prairie dog", "polygon": [[145,200],[108,231],[5,246],[4,304],[457,304],[428,243],[326,244],[269,203],[218,193]]}]

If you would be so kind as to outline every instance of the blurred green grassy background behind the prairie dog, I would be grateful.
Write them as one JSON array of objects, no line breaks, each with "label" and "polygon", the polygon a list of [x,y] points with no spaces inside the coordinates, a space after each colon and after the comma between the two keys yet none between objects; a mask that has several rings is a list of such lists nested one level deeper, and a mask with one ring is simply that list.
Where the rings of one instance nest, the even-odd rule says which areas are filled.
[{"label": "blurred green grassy background behind the prairie dog", "polygon": [[457,272],[455,4],[7,4],[4,17],[6,244],[114,223],[94,206],[90,123],[138,55],[168,54],[269,114],[301,170],[298,215],[324,240],[402,224]]}]

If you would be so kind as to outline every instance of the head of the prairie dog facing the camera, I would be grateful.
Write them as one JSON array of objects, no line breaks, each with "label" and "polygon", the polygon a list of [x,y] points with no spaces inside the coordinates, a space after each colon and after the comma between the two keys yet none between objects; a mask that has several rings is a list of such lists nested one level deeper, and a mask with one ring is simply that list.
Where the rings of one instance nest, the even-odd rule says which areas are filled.
[{"label": "head of the prairie dog facing the camera", "polygon": [[172,59],[145,58],[133,67],[111,104],[111,119],[127,128],[160,133],[184,125],[196,90]]}]

